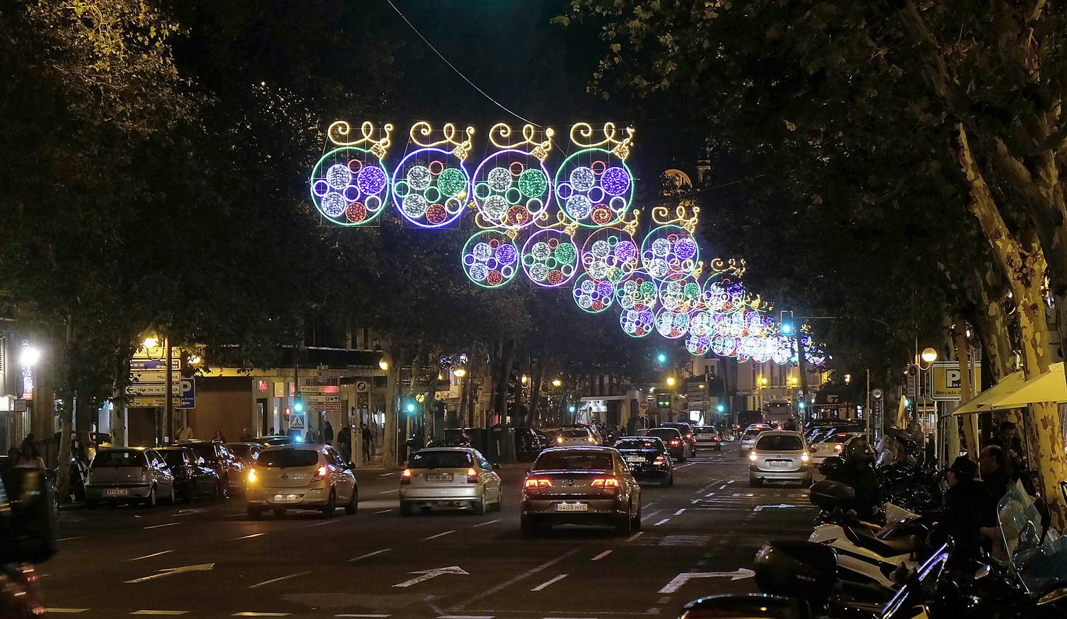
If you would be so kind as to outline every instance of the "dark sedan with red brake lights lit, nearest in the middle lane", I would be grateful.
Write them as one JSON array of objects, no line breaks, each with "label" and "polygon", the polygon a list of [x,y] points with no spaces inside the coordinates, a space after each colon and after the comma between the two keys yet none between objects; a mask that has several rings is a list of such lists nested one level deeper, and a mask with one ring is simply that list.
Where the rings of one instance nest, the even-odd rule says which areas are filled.
[{"label": "dark sedan with red brake lights lit, nearest in the middle lane", "polygon": [[616,449],[545,449],[523,480],[520,518],[524,536],[557,524],[609,524],[628,535],[641,528],[641,489]]}]

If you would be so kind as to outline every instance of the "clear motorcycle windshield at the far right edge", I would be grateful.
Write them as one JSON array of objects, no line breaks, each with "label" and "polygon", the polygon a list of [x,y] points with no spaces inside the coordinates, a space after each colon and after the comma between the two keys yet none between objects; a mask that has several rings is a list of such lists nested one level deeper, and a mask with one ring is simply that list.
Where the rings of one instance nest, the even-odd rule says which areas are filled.
[{"label": "clear motorcycle windshield at the far right edge", "polygon": [[1041,537],[1041,515],[1021,483],[1004,494],[997,511],[1004,549],[1026,590],[1044,593],[1067,584],[1067,537],[1051,527]]}]

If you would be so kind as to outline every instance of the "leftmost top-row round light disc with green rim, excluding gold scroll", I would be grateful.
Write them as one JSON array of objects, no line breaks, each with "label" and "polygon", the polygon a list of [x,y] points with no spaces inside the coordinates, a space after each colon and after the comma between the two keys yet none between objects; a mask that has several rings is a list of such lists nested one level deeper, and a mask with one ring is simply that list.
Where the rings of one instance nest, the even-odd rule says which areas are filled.
[{"label": "leftmost top-row round light disc with green rim, excluding gold scroll", "polygon": [[312,169],[312,201],[337,225],[367,225],[389,199],[389,173],[377,155],[359,146],[336,148]]}]

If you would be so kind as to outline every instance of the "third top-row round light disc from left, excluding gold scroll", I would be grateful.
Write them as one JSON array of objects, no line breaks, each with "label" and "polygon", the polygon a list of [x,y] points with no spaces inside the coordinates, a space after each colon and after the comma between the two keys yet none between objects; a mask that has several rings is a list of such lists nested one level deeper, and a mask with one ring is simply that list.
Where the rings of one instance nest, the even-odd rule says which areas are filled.
[{"label": "third top-row round light disc from left, excluding gold scroll", "polygon": [[474,171],[474,203],[496,227],[519,229],[552,204],[548,169],[537,157],[508,148],[487,157]]}]

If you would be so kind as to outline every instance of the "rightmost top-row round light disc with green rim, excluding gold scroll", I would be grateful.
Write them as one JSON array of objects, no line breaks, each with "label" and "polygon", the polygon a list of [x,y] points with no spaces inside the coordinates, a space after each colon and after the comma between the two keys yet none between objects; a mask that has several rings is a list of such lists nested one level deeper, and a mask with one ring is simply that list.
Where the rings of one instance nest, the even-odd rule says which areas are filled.
[{"label": "rightmost top-row round light disc with green rim, excluding gold scroll", "polygon": [[634,175],[615,153],[584,148],[560,164],[554,192],[560,210],[578,225],[610,226],[630,210]]}]

